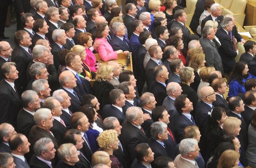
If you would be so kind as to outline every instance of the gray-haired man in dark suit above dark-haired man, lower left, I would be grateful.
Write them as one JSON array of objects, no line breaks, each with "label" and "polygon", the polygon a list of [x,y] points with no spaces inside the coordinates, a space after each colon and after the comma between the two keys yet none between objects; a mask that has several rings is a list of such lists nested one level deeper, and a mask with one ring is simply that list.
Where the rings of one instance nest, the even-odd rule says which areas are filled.
[{"label": "gray-haired man in dark suit above dark-haired man, lower left", "polygon": [[17,132],[28,136],[30,129],[35,125],[34,112],[40,109],[40,100],[34,90],[26,90],[21,95],[21,105],[17,116]]}]

